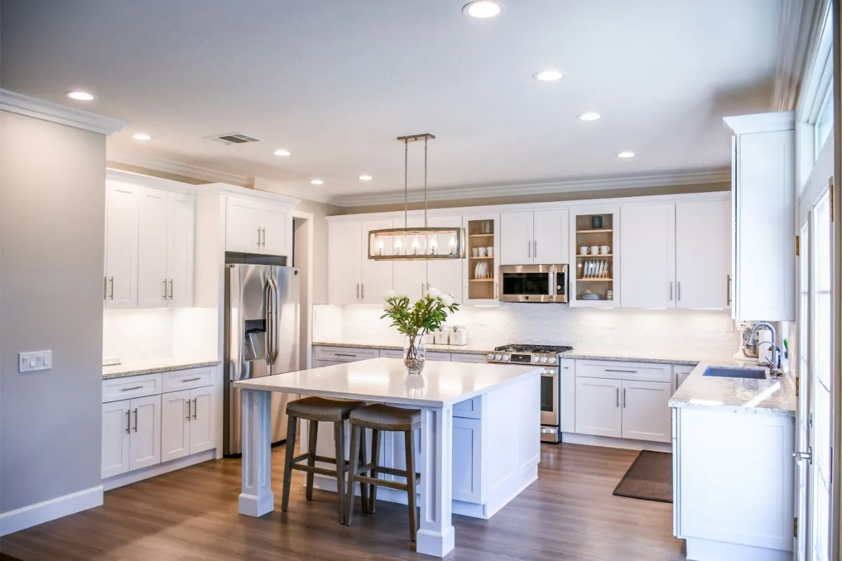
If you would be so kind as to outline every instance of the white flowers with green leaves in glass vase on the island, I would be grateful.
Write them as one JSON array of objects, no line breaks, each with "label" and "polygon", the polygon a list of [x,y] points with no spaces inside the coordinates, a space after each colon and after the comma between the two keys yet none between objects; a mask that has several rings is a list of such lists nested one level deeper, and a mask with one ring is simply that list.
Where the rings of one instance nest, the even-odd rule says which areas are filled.
[{"label": "white flowers with green leaves in glass vase on the island", "polygon": [[392,327],[406,336],[403,346],[403,363],[409,373],[420,373],[424,368],[424,334],[440,329],[447,315],[459,310],[450,294],[441,294],[429,288],[420,299],[410,304],[406,294],[390,290],[383,297],[385,304],[381,319],[392,320]]}]

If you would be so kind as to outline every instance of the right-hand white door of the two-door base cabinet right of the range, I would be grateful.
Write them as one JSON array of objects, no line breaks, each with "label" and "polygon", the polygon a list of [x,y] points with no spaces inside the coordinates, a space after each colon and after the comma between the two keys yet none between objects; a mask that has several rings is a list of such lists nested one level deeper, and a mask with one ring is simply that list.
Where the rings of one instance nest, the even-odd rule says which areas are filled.
[{"label": "right-hand white door of the two-door base cabinet right of the range", "polygon": [[669,396],[672,384],[667,382],[624,381],[622,392],[623,438],[670,442]]}]

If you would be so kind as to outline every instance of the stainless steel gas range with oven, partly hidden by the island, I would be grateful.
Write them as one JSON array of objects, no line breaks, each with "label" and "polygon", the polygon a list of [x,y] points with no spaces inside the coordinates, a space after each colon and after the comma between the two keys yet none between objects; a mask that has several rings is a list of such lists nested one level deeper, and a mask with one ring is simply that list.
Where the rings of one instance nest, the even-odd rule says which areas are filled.
[{"label": "stainless steel gas range with oven, partly hidden by the island", "polygon": [[541,441],[562,442],[562,394],[558,378],[561,370],[559,355],[572,351],[566,345],[504,345],[486,355],[488,363],[535,364],[544,367],[541,372]]}]

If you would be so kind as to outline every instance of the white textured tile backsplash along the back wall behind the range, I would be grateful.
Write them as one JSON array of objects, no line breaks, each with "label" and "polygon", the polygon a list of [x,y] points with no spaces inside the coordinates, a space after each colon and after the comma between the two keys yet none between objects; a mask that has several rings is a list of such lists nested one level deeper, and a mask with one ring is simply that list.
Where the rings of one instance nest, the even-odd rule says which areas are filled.
[{"label": "white textured tile backsplash along the back wall behind the range", "polygon": [[[313,307],[313,341],[394,341],[402,336],[381,320],[381,306]],[[506,342],[572,345],[579,351],[632,355],[697,354],[731,357],[739,333],[727,311],[571,308],[565,304],[465,306],[448,318],[465,325],[468,344]]]}]

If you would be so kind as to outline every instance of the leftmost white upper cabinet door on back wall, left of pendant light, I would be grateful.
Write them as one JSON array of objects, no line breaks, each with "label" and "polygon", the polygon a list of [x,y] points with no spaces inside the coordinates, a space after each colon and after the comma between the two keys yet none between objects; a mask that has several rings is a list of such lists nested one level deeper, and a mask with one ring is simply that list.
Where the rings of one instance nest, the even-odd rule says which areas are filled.
[{"label": "leftmost white upper cabinet door on back wall, left of pendant light", "polygon": [[328,302],[360,304],[363,236],[360,222],[328,223]]}]

